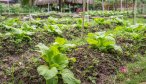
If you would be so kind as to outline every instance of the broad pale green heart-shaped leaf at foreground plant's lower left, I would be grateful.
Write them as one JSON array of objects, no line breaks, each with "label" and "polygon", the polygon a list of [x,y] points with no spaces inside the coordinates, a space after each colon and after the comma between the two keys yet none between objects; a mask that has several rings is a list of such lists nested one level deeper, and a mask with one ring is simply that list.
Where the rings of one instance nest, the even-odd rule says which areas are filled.
[{"label": "broad pale green heart-shaped leaf at foreground plant's lower left", "polygon": [[41,65],[37,68],[37,71],[40,75],[42,75],[46,80],[54,78],[58,74],[58,70],[56,67],[52,67],[49,69],[46,65]]}]

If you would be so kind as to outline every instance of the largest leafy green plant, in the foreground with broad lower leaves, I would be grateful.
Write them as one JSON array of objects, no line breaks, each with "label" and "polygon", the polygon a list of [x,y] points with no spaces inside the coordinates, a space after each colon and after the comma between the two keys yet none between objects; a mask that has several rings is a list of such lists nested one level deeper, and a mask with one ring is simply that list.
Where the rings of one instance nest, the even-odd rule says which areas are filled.
[{"label": "largest leafy green plant, in the foreground with broad lower leaves", "polygon": [[41,58],[46,62],[37,70],[46,79],[46,84],[58,84],[59,79],[63,79],[66,84],[80,84],[80,81],[67,68],[70,58],[64,54],[69,48],[75,47],[74,44],[68,44],[64,38],[57,38],[50,47],[44,44],[37,46],[42,53]]}]

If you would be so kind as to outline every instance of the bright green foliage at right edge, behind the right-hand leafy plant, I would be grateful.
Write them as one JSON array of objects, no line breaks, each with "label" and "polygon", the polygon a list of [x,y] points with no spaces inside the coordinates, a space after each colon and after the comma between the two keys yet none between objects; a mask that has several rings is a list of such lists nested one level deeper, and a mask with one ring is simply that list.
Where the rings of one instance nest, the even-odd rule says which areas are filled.
[{"label": "bright green foliage at right edge, behind the right-hand leafy plant", "polygon": [[[144,24],[129,25],[123,27],[116,27],[115,32],[117,36],[122,36],[127,39],[132,40],[142,40],[144,39],[144,32],[146,31]],[[125,35],[127,37],[125,37]]]}]

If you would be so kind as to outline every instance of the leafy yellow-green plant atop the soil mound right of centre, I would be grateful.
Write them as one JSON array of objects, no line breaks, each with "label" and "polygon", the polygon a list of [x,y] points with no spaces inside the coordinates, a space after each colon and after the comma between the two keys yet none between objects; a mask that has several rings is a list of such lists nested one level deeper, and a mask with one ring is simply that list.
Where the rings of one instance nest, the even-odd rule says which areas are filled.
[{"label": "leafy yellow-green plant atop the soil mound right of centre", "polygon": [[122,52],[120,46],[116,45],[116,41],[112,34],[106,34],[106,32],[89,33],[87,38],[88,44],[93,48],[97,48],[101,51],[110,51],[111,49]]}]

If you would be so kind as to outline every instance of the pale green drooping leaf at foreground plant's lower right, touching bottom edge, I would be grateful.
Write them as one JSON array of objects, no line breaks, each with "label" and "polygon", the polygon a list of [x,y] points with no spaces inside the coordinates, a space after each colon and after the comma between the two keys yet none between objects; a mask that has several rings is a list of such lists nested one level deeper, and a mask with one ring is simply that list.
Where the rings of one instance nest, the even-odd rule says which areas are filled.
[{"label": "pale green drooping leaf at foreground plant's lower right, touching bottom edge", "polygon": [[61,73],[64,83],[81,84],[80,80],[76,79],[69,69],[64,69]]}]

